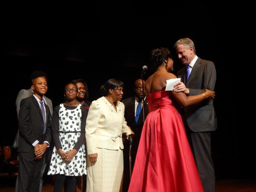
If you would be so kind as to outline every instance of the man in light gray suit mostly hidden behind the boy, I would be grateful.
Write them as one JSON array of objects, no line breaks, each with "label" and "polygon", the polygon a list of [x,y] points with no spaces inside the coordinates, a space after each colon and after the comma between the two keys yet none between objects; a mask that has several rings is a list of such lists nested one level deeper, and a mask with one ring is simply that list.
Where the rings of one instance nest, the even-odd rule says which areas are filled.
[{"label": "man in light gray suit mostly hidden behind the boy", "polygon": [[[44,77],[46,80],[47,80],[47,74],[44,73],[43,71],[34,71],[32,72],[31,76],[30,76],[30,80],[31,82],[33,81],[33,79],[35,78],[38,78],[38,77]],[[30,89],[22,89],[19,91],[18,93],[18,96],[16,98],[16,109],[17,109],[17,116],[18,116],[18,119],[19,119],[19,110],[20,110],[20,101],[24,98],[28,98],[30,97],[32,94],[34,93],[33,89],[30,88]],[[51,113],[51,116],[53,115],[53,104],[51,102],[51,99],[47,98],[44,96],[44,102],[46,103],[46,105],[49,107],[50,109],[50,113]],[[15,140],[14,140],[14,143],[12,145],[13,148],[16,148],[18,147],[18,142],[19,142],[19,129],[18,129],[18,132],[16,134],[16,137],[15,137]],[[48,149],[49,150],[49,149]],[[43,166],[42,166],[42,169],[41,169],[41,172],[40,172],[40,187],[39,187],[39,192],[42,191],[42,185],[43,185],[43,173],[44,173],[44,170],[46,168],[46,160],[47,160],[47,157],[48,155],[45,155],[45,158],[44,158],[44,161],[43,161]],[[16,188],[15,188],[15,192],[18,192],[18,177],[17,177],[17,180],[16,180]]]}]

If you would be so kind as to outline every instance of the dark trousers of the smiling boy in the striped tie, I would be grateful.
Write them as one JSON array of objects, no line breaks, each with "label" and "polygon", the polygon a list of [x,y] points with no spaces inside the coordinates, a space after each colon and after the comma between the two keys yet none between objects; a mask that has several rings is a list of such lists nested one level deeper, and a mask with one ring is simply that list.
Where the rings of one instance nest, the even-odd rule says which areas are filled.
[{"label": "dark trousers of the smiling boy in the striped tie", "polygon": [[39,190],[43,158],[44,156],[40,160],[36,160],[34,153],[19,152],[18,192]]}]

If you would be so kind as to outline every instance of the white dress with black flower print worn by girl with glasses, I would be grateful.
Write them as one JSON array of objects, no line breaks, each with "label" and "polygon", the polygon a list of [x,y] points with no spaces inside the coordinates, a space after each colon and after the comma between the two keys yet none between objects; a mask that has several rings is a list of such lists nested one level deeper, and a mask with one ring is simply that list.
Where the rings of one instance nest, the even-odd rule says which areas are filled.
[{"label": "white dress with black flower print worn by girl with glasses", "polygon": [[[59,133],[62,150],[67,152],[74,148],[75,143],[78,141],[79,132],[81,128],[81,105],[79,104],[75,110],[68,110],[60,105],[59,110],[59,130],[66,133]],[[65,127],[63,127],[65,125]],[[72,133],[77,132],[77,133]],[[71,162],[63,162],[62,158],[57,153],[54,147],[48,175],[63,174],[72,176],[81,176],[86,174],[86,155],[84,144],[79,148],[77,154]]]}]

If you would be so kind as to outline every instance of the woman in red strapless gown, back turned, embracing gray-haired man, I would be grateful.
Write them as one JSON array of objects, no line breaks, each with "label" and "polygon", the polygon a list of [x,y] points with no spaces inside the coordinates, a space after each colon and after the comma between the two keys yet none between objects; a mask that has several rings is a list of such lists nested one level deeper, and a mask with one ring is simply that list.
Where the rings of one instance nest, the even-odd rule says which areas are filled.
[{"label": "woman in red strapless gown, back turned, embracing gray-haired man", "polygon": [[155,71],[146,82],[148,114],[141,133],[128,192],[203,192],[197,166],[191,152],[181,115],[175,103],[183,107],[214,98],[214,92],[187,97],[185,93],[165,91],[166,80],[177,78],[170,51],[151,51]]}]

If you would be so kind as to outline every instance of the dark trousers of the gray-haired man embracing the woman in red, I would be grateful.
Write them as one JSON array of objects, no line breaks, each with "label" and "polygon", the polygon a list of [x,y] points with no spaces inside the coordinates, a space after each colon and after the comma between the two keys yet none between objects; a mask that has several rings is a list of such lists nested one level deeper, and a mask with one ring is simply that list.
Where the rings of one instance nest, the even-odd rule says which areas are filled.
[{"label": "dark trousers of the gray-haired man embracing the woman in red", "polygon": [[187,139],[193,152],[195,163],[203,190],[205,192],[215,192],[215,175],[213,161],[211,157],[211,135],[210,132],[193,132],[189,129],[186,120],[185,126]]}]

